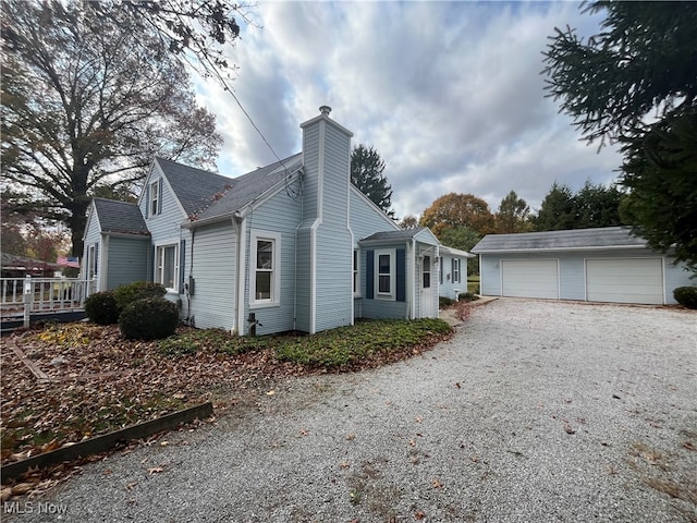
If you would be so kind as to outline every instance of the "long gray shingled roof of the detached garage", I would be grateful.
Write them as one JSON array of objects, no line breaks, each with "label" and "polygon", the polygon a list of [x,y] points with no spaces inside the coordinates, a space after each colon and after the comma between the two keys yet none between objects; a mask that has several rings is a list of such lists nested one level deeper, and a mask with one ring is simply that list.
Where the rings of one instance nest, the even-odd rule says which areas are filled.
[{"label": "long gray shingled roof of the detached garage", "polygon": [[634,236],[625,227],[574,229],[568,231],[487,234],[472,248],[473,253],[524,251],[566,251],[604,247],[643,247],[646,240]]}]

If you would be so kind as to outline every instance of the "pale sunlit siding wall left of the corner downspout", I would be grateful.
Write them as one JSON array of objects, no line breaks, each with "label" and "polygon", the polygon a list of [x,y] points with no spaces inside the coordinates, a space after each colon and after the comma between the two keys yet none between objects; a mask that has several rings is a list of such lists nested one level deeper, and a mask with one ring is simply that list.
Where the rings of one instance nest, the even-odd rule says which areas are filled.
[{"label": "pale sunlit siding wall left of the corner downspout", "polygon": [[[186,242],[184,281],[194,279],[194,295],[182,294],[182,315],[199,328],[232,330],[235,323],[236,232],[230,221],[201,227]],[[188,309],[191,304],[191,312]]]}]

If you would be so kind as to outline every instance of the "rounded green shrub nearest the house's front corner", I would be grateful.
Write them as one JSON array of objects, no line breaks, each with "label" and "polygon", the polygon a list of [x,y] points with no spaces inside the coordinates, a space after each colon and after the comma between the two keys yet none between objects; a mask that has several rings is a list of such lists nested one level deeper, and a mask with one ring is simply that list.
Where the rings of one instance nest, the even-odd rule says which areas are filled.
[{"label": "rounded green shrub nearest the house's front corner", "polygon": [[130,303],[119,316],[121,333],[127,340],[159,340],[172,336],[179,324],[179,308],[163,297],[145,297]]}]

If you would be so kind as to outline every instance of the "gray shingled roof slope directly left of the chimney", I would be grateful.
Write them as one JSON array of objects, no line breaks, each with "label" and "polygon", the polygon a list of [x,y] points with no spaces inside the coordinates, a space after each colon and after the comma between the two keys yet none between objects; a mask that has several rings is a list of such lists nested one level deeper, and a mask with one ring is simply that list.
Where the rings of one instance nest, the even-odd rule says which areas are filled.
[{"label": "gray shingled roof slope directly left of the chimney", "polygon": [[260,167],[239,178],[230,180],[232,188],[197,216],[198,220],[209,220],[229,216],[254,202],[271,187],[282,182],[302,167],[303,154],[297,153],[282,161]]}]

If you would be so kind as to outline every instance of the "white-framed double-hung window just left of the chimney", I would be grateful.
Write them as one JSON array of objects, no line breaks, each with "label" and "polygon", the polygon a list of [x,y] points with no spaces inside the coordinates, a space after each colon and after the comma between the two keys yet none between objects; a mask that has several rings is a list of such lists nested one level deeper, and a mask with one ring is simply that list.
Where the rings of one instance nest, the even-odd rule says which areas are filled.
[{"label": "white-framed double-hung window just left of the chimney", "polygon": [[280,301],[281,236],[262,231],[252,232],[252,267],[249,278],[252,305],[278,305]]}]

